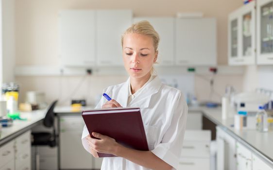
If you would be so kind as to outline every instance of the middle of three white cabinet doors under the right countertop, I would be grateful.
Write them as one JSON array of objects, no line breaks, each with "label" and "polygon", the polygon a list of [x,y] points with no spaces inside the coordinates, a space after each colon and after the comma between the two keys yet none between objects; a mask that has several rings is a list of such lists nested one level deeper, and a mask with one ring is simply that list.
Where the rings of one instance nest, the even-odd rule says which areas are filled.
[{"label": "middle of three white cabinet doors under the right countertop", "polygon": [[252,170],[252,153],[241,143],[236,143],[237,170]]}]

